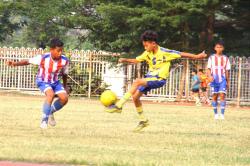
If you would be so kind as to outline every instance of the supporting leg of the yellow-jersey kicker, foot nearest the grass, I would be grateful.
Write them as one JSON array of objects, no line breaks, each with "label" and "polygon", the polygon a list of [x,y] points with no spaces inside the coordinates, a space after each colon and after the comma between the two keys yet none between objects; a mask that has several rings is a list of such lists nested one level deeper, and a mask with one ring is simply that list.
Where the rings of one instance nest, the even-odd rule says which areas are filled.
[{"label": "supporting leg of the yellow-jersey kicker, foot nearest the grass", "polygon": [[136,112],[139,115],[139,124],[137,125],[137,127],[134,129],[135,132],[141,131],[143,128],[147,127],[149,125],[148,123],[148,119],[145,117],[144,113],[143,113],[143,108],[142,108],[142,103],[140,101],[140,97],[143,95],[143,92],[140,92],[139,90],[137,90],[133,97],[133,102],[136,108]]}]

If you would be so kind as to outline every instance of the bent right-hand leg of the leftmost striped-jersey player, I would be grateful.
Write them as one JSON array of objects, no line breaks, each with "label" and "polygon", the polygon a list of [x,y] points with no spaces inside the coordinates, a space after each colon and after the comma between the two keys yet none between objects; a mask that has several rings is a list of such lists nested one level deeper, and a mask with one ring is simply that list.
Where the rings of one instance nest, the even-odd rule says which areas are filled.
[{"label": "bent right-hand leg of the leftmost striped-jersey player", "polygon": [[58,98],[51,105],[51,111],[50,111],[50,116],[49,116],[49,124],[51,126],[56,125],[54,113],[62,109],[64,105],[68,103],[68,94],[64,90],[62,84],[60,82],[57,82],[54,84],[53,88]]}]

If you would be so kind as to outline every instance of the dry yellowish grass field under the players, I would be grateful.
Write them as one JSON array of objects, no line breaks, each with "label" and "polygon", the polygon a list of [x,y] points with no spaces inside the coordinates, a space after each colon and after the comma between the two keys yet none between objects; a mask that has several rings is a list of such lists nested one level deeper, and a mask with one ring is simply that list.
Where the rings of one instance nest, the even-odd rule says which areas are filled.
[{"label": "dry yellowish grass field under the players", "polygon": [[95,100],[70,99],[57,126],[39,128],[43,97],[0,96],[0,160],[66,165],[250,165],[250,109],[145,104],[150,126],[132,132],[132,103],[109,114]]}]

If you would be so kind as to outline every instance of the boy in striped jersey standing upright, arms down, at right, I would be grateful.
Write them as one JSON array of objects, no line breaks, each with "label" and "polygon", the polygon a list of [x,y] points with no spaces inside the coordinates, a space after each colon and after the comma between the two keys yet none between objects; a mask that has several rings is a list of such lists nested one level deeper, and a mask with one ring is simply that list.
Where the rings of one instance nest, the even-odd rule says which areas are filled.
[{"label": "boy in striped jersey standing upright, arms down, at right", "polygon": [[208,76],[210,80],[210,86],[213,94],[212,106],[214,109],[214,118],[219,119],[217,106],[218,96],[220,96],[220,119],[224,119],[226,101],[225,94],[230,85],[229,70],[230,62],[226,55],[223,54],[224,44],[217,42],[214,46],[215,54],[211,55],[208,59]]}]

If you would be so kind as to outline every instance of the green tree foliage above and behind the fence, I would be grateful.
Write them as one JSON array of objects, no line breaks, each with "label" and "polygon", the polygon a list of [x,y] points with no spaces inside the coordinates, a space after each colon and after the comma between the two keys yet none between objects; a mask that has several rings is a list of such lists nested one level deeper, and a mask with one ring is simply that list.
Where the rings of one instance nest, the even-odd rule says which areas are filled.
[{"label": "green tree foliage above and behind the fence", "polygon": [[[140,34],[152,29],[159,33],[162,46],[176,50],[212,50],[213,41],[223,39],[232,53],[250,51],[247,0],[7,2],[0,3],[0,40],[5,39],[3,34],[13,34],[25,20],[24,43],[37,47],[44,47],[56,36],[69,49],[101,49],[136,56],[143,51]],[[16,18],[21,16],[17,23],[10,21],[13,11],[18,11]]]}]

